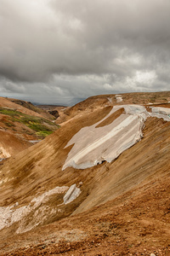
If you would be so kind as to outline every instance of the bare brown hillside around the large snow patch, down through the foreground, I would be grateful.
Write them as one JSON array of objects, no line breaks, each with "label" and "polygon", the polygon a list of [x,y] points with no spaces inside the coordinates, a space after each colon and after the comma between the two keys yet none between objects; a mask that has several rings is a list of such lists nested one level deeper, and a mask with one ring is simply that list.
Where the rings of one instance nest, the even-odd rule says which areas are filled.
[{"label": "bare brown hillside around the large snow patch, down through the foreground", "polygon": [[[111,163],[62,171],[72,148],[65,148],[66,143],[112,108],[98,106],[1,166],[0,210],[8,207],[0,231],[6,237],[1,240],[2,255],[19,247],[11,255],[168,255],[170,122],[148,118],[144,137]],[[75,183],[81,194],[64,204],[65,191]],[[44,195],[57,186],[63,190]],[[15,214],[11,219],[10,211]]]}]

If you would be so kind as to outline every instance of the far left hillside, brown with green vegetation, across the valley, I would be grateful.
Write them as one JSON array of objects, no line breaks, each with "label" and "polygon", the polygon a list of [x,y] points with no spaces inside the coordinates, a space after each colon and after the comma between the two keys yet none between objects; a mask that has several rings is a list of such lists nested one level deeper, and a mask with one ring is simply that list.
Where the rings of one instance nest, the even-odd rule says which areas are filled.
[{"label": "far left hillside, brown with green vegetation, across the valley", "polygon": [[30,102],[0,97],[0,158],[17,154],[32,145],[30,140],[42,139],[55,131],[58,126],[49,118],[54,119]]}]

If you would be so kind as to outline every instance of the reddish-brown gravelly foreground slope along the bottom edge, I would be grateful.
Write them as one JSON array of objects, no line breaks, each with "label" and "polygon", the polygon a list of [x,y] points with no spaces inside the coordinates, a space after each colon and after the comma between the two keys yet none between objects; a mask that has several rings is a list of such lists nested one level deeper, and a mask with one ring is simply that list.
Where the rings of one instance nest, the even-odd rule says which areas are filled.
[{"label": "reddish-brown gravelly foreground slope along the bottom edge", "polygon": [[100,207],[3,239],[1,255],[167,256],[169,182],[164,173]]}]

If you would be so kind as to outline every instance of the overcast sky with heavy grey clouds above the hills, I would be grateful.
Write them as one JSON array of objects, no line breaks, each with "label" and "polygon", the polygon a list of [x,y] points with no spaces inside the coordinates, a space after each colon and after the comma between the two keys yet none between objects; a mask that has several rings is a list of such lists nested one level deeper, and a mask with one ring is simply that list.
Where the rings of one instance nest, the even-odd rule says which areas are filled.
[{"label": "overcast sky with heavy grey clouds above the hills", "polygon": [[170,90],[169,0],[0,0],[0,96]]}]

